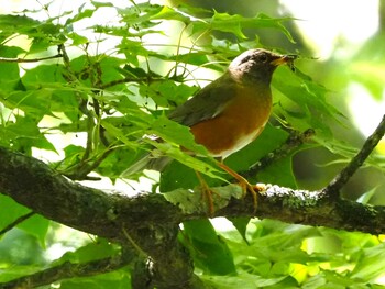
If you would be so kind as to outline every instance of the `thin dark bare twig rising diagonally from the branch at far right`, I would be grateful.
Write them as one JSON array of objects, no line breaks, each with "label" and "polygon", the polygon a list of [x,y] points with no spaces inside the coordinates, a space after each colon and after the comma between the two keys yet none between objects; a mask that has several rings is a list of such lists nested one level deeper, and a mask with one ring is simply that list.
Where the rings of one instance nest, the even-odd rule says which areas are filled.
[{"label": "thin dark bare twig rising diagonally from the branch at far right", "polygon": [[365,159],[370,156],[373,149],[376,147],[381,138],[385,134],[385,115],[380,122],[377,129],[373,134],[367,137],[364,145],[360,152],[350,160],[348,166],[345,166],[340,174],[323,189],[330,198],[338,198],[340,189],[349,181],[349,179],[354,175],[354,173],[362,166]]}]

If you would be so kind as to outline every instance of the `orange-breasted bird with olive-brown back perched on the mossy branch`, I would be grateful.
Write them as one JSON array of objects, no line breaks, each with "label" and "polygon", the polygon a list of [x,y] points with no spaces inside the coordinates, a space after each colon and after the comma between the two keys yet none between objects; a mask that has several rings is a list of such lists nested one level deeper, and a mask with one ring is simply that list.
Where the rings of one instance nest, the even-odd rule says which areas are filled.
[{"label": "orange-breasted bird with olive-brown back perched on the mossy branch", "polygon": [[[272,112],[273,73],[283,64],[293,68],[294,58],[293,55],[280,55],[263,48],[245,51],[230,63],[222,76],[168,114],[169,120],[188,126],[195,142],[218,158],[218,166],[234,177],[244,192],[249,191],[253,196],[255,209],[256,187],[224,165],[223,159],[262,133]],[[163,165],[158,165],[156,162],[162,160],[148,156],[135,169],[167,164],[163,160]],[[151,167],[148,163],[153,163]],[[209,211],[212,213],[213,201],[209,189],[207,191]]]}]

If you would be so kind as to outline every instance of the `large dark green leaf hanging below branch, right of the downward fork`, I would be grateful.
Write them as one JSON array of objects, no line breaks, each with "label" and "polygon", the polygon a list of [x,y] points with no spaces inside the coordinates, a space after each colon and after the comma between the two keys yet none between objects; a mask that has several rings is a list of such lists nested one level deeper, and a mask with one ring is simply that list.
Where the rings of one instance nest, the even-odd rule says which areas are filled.
[{"label": "large dark green leaf hanging below branch, right of the downward fork", "polygon": [[217,235],[208,220],[184,223],[184,232],[194,248],[195,263],[210,274],[229,275],[235,273],[233,257],[226,240]]}]

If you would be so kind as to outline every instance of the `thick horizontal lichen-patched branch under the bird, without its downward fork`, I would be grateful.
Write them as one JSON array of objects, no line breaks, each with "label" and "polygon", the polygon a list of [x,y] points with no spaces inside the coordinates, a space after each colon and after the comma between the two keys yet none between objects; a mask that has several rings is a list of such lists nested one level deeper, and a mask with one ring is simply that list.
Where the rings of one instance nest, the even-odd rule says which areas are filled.
[{"label": "thick horizontal lichen-patched branch under the bird, without its downward fork", "polygon": [[[37,159],[2,147],[0,158],[2,193],[48,219],[102,237],[125,240],[123,226],[141,229],[160,224],[160,220],[163,224],[173,225],[207,218],[199,190],[194,197],[190,191],[180,189],[165,194],[148,193],[130,198],[80,186],[57,175]],[[213,190],[221,196],[215,200],[216,216],[252,214],[252,198],[239,198],[242,194],[239,186],[229,185]],[[188,201],[184,202],[184,198]],[[180,207],[180,203],[190,203],[190,207]],[[345,200],[331,201],[322,191],[267,186],[265,194],[260,197],[256,215],[376,234],[385,232],[384,210],[383,207]],[[360,215],[359,220],[346,218],[346,212],[353,216]]]}]

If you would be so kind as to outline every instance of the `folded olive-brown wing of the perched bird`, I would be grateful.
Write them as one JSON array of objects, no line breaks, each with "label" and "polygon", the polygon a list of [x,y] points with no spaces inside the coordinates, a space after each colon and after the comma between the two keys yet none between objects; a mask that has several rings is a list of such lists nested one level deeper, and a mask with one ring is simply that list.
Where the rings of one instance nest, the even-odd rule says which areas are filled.
[{"label": "folded olive-brown wing of the perched bird", "polygon": [[234,80],[224,75],[176,108],[168,118],[187,126],[213,119],[224,110],[235,93]]}]

